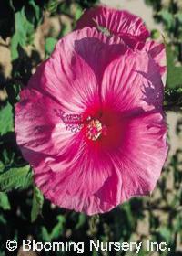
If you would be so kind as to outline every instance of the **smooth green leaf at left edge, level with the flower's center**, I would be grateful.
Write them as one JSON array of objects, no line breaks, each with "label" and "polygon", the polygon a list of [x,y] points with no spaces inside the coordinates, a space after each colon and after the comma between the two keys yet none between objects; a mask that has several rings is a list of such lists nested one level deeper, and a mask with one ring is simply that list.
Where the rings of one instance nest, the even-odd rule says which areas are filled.
[{"label": "smooth green leaf at left edge, level with the flower's center", "polygon": [[14,130],[12,106],[9,103],[6,104],[5,108],[0,110],[0,123],[0,135]]}]

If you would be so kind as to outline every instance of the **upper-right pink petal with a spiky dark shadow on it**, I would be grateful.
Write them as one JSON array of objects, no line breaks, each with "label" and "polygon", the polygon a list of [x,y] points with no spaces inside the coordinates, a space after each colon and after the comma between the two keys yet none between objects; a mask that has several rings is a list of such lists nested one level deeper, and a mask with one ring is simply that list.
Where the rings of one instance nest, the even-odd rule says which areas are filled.
[{"label": "upper-right pink petal with a spiky dark shadow on it", "polygon": [[145,51],[128,50],[105,70],[103,105],[120,112],[160,110],[163,84],[157,64]]}]

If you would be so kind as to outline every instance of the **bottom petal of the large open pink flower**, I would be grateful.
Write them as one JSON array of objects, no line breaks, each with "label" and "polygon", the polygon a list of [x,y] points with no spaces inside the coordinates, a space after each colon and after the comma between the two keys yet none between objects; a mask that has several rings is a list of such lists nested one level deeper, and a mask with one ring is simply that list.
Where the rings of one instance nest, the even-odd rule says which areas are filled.
[{"label": "bottom petal of the large open pink flower", "polygon": [[35,166],[35,183],[45,197],[62,208],[88,215],[116,207],[121,197],[121,176],[101,152],[80,148],[65,163],[45,159]]}]

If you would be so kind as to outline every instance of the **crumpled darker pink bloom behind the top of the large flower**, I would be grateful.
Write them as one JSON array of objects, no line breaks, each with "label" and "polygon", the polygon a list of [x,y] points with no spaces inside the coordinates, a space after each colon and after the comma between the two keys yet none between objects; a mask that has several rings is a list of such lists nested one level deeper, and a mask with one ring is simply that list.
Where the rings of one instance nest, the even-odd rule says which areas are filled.
[{"label": "crumpled darker pink bloom behind the top of the large flower", "polygon": [[98,26],[106,27],[111,34],[122,37],[126,43],[128,39],[145,41],[149,37],[149,31],[140,17],[102,5],[86,10],[77,22],[77,28]]}]

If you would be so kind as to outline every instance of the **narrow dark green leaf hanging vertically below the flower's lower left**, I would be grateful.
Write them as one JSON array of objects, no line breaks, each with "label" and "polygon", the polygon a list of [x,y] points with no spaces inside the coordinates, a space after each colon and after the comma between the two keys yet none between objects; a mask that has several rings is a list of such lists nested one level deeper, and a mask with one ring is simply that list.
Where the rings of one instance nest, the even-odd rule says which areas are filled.
[{"label": "narrow dark green leaf hanging vertically below the flower's lower left", "polygon": [[41,214],[42,208],[44,204],[44,197],[38,187],[34,187],[34,196],[33,196],[33,204],[31,211],[31,221],[35,222],[38,218],[38,215]]}]

